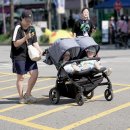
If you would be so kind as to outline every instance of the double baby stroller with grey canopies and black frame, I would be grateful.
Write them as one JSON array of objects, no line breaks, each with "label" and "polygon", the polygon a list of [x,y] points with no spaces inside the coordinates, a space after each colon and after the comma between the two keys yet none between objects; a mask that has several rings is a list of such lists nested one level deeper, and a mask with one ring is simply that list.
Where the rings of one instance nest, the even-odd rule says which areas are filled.
[{"label": "double baby stroller with grey canopies and black frame", "polygon": [[[79,59],[83,57],[84,50],[89,46],[96,47],[98,53],[100,47],[90,37],[60,39],[46,51],[45,63],[54,64],[58,70],[56,85],[49,91],[49,99],[51,103],[59,103],[60,97],[64,96],[75,99],[77,104],[81,106],[84,104],[84,96],[87,99],[91,99],[94,95],[93,90],[101,85],[108,86],[104,92],[106,100],[111,101],[113,99],[112,85],[109,78],[104,73],[105,68],[100,71],[84,70],[73,74],[68,74],[64,70],[66,64],[91,59],[99,60],[97,57],[91,59]],[[72,60],[60,64],[62,56],[66,51],[71,53]],[[102,82],[103,78],[106,78],[107,82]]]}]

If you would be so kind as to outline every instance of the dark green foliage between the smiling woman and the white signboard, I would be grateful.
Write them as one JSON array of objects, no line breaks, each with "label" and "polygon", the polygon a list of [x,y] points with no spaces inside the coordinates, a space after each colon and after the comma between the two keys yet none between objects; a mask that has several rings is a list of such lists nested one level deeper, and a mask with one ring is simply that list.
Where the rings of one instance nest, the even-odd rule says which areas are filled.
[{"label": "dark green foliage between the smiling woman and the white signboard", "polygon": [[102,34],[101,34],[101,31],[99,29],[97,29],[96,32],[92,33],[92,37],[94,38],[96,43],[101,44],[101,42],[102,42]]}]

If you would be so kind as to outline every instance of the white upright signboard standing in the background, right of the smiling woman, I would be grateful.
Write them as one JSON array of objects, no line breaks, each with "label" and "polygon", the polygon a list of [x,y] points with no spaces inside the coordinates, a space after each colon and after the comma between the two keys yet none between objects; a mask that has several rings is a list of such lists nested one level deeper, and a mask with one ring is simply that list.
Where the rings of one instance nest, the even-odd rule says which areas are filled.
[{"label": "white upright signboard standing in the background, right of the smiling woman", "polygon": [[102,42],[109,42],[109,21],[102,21]]}]

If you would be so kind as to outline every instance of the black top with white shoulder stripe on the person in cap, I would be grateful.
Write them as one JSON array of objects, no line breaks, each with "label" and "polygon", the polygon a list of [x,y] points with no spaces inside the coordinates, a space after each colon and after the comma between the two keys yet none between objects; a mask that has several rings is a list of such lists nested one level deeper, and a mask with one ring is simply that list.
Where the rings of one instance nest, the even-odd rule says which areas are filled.
[{"label": "black top with white shoulder stripe on the person in cap", "polygon": [[14,33],[13,33],[13,36],[12,36],[11,53],[10,53],[10,57],[14,60],[24,60],[24,61],[26,61],[29,58],[26,43],[23,43],[19,47],[15,47],[14,43],[13,43],[17,40],[22,39],[24,37],[24,32],[25,33],[31,32],[31,33],[35,34],[32,38],[30,38],[28,40],[29,44],[33,44],[33,43],[37,42],[37,37],[36,37],[35,29],[34,29],[33,26],[30,26],[27,30],[24,30],[21,27],[21,25],[17,25],[14,29]]}]

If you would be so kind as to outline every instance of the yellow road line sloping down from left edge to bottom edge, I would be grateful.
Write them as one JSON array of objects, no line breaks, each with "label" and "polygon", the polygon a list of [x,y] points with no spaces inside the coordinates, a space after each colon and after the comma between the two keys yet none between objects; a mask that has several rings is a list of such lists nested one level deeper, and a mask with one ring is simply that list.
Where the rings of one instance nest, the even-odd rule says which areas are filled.
[{"label": "yellow road line sloping down from left edge to bottom edge", "polygon": [[0,115],[0,119],[4,120],[4,121],[16,123],[16,124],[19,124],[19,125],[23,125],[23,126],[28,126],[28,127],[31,127],[31,128],[36,128],[36,129],[39,129],[39,130],[41,130],[41,129],[43,129],[43,130],[56,130],[55,128],[51,128],[51,127],[47,127],[47,126],[43,126],[43,125],[31,123],[31,122],[24,122],[22,120],[14,119],[14,118],[7,117],[7,116],[1,116]]}]

